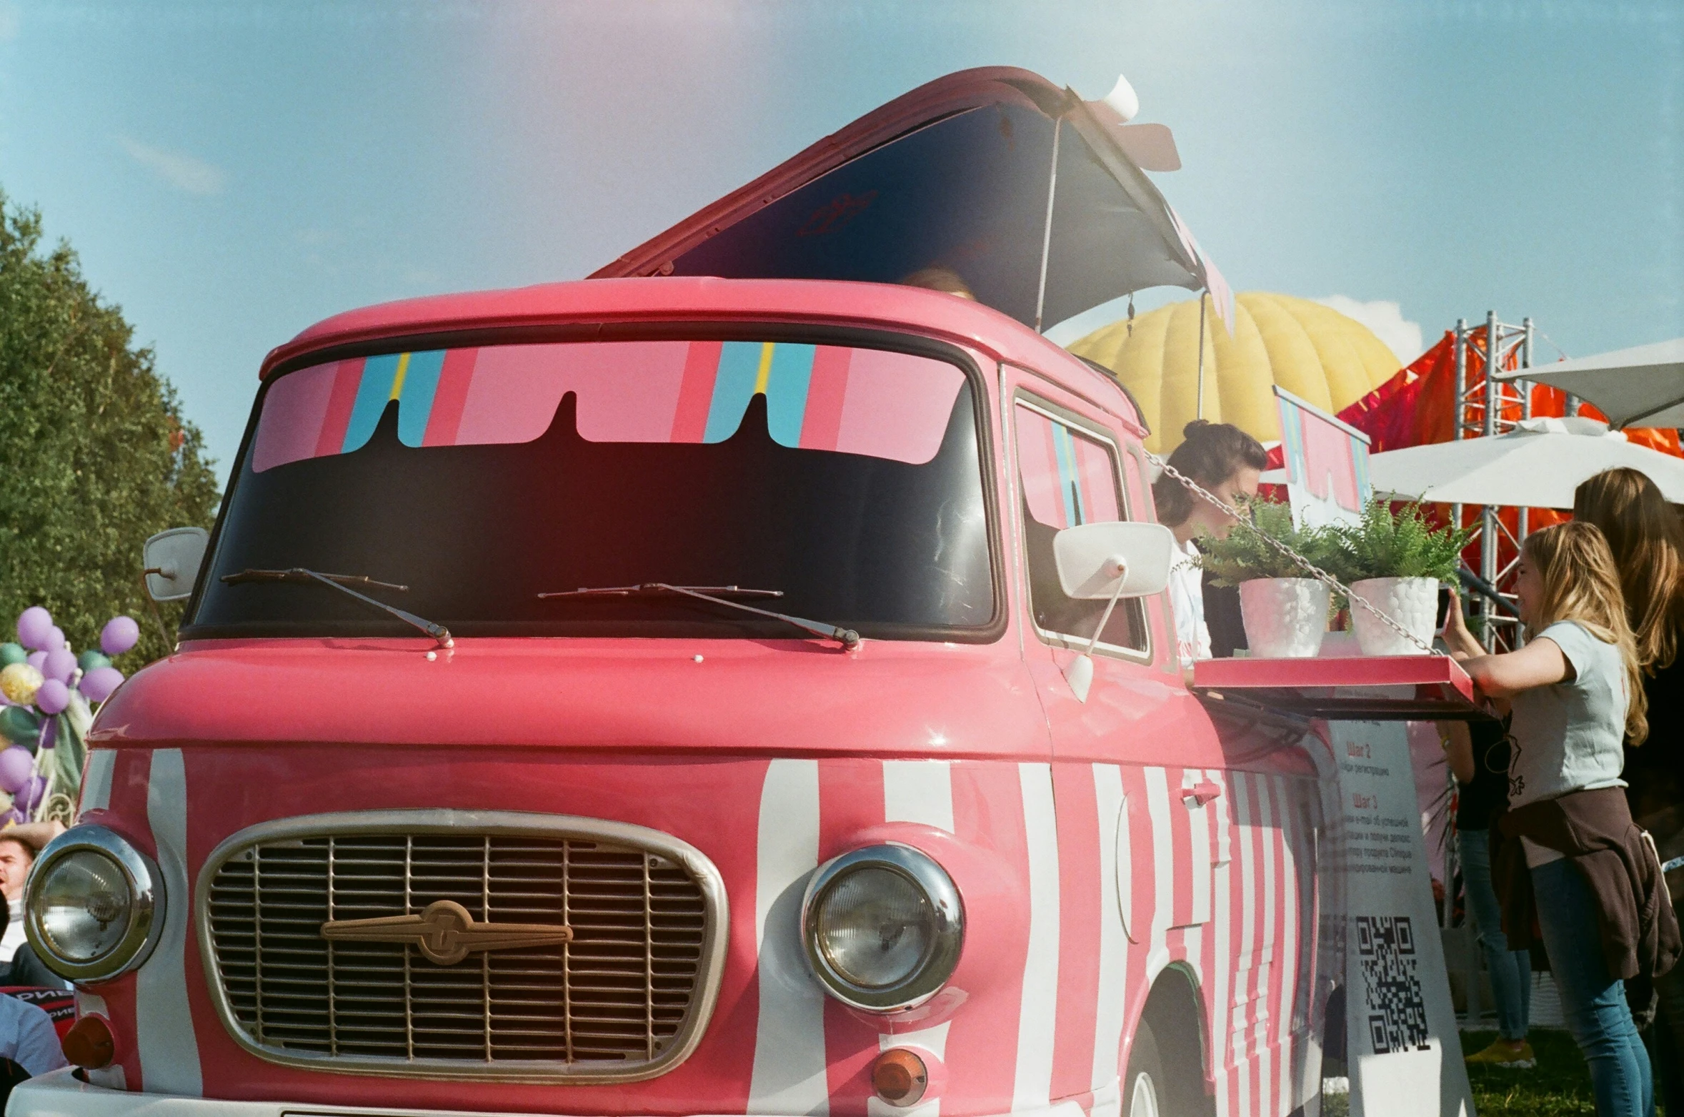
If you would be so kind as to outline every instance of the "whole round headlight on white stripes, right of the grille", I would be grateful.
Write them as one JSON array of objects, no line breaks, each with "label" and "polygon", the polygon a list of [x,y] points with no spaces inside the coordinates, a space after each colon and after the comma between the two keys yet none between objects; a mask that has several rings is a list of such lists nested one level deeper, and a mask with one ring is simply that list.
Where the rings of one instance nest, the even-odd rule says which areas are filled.
[{"label": "whole round headlight on white stripes, right of the grille", "polygon": [[893,1013],[928,1001],[953,975],[963,935],[953,879],[909,846],[845,852],[807,888],[807,959],[830,996],[854,1007]]}]

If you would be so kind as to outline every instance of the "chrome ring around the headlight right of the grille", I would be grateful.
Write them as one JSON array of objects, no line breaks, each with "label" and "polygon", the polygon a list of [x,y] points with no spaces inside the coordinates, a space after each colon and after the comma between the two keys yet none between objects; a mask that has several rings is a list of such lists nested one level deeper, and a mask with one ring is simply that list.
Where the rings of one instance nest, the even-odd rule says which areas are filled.
[{"label": "chrome ring around the headlight right of the grille", "polygon": [[[820,925],[827,898],[862,869],[889,871],[923,893],[930,915],[930,942],[904,977],[886,986],[864,986],[847,977],[825,949]],[[898,1013],[923,1004],[948,982],[965,945],[965,906],[953,878],[935,858],[901,844],[864,846],[818,866],[802,900],[802,943],[807,964],[832,997],[869,1013]]]}]

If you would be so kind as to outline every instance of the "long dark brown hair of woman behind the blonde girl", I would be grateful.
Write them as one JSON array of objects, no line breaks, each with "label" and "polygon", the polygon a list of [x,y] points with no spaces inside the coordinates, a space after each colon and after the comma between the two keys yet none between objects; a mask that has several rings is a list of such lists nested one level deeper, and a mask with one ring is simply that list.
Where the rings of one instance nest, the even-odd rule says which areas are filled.
[{"label": "long dark brown hair of woman behind the blonde girl", "polygon": [[1573,490],[1573,519],[1596,524],[1620,568],[1637,662],[1654,674],[1679,654],[1684,531],[1660,487],[1632,468],[1603,470]]}]

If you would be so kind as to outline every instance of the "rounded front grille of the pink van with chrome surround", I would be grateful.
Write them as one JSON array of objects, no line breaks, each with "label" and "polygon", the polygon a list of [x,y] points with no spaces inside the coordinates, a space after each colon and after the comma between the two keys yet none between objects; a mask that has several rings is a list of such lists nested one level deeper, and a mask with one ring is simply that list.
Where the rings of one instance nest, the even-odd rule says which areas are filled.
[{"label": "rounded front grille of the pink van with chrome surround", "polygon": [[[451,967],[413,947],[320,938],[323,915],[404,915],[436,898],[477,918],[559,917],[579,938]],[[714,1011],[729,927],[724,881],[687,842],[507,810],[263,822],[212,851],[195,913],[210,1001],[246,1051],[308,1070],[530,1083],[640,1082],[689,1058]],[[397,1053],[369,1053],[382,1046]]]}]

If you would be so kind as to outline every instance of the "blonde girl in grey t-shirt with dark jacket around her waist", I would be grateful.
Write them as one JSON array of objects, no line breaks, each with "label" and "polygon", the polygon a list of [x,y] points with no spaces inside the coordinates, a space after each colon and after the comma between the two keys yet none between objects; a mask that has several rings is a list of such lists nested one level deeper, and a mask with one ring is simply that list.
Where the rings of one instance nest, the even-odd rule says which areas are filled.
[{"label": "blonde girl in grey t-shirt with dark jacket around her waist", "polygon": [[1517,652],[1487,655],[1460,605],[1445,627],[1475,686],[1511,709],[1509,810],[1490,834],[1502,930],[1524,949],[1536,917],[1596,1112],[1650,1117],[1654,1078],[1622,979],[1671,969],[1679,930],[1620,778],[1622,745],[1647,724],[1608,541],[1583,522],[1529,536],[1516,595],[1531,633]]}]

